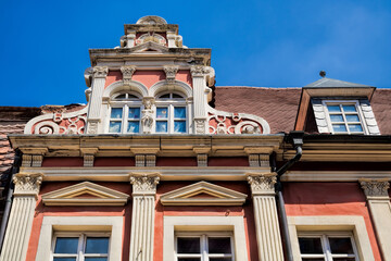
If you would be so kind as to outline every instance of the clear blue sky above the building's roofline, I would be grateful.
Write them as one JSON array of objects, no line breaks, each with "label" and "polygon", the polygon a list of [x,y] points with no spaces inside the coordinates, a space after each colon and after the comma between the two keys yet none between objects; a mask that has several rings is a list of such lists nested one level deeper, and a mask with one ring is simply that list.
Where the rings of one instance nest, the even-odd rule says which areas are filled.
[{"label": "clear blue sky above the building's roofline", "polygon": [[0,105],[85,103],[89,48],[160,15],[212,48],[216,86],[300,87],[327,76],[391,87],[390,0],[0,0]]}]

